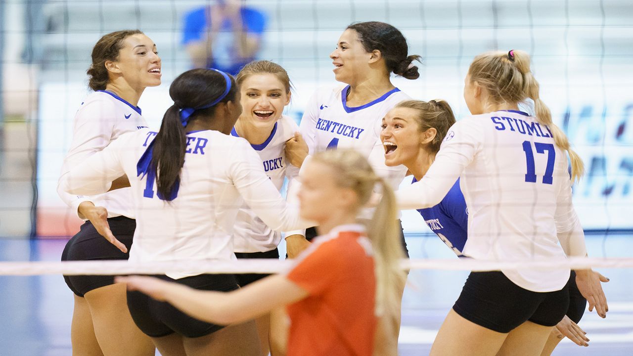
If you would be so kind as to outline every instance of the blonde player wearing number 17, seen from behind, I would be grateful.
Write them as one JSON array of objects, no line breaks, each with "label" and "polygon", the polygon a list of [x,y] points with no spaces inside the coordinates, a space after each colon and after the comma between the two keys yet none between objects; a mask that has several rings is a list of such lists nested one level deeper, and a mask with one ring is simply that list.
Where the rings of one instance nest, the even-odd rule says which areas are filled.
[{"label": "blonde player wearing number 17, seen from behind", "polygon": [[[482,260],[585,256],[571,203],[582,161],[551,121],[523,51],[480,54],[465,79],[471,117],[449,129],[424,177],[396,194],[401,208],[437,205],[458,177],[468,205],[463,253]],[[536,117],[518,110],[534,101]],[[389,146],[398,151],[398,146]],[[461,176],[460,176],[461,175]],[[558,241],[560,240],[560,245]],[[591,270],[576,281],[598,314],[606,302]],[[437,334],[431,355],[540,355],[568,308],[569,269],[472,272]],[[599,283],[598,283],[599,285]],[[460,342],[454,335],[460,334]]]}]

